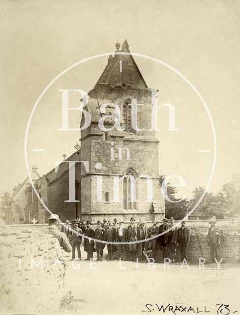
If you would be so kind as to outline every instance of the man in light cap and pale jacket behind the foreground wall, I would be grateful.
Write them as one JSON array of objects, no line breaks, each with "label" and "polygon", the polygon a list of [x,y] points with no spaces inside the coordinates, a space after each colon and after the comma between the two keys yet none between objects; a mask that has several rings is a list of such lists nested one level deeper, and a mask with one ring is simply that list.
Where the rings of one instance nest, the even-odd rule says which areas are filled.
[{"label": "man in light cap and pale jacket behind the foreground wall", "polygon": [[52,234],[59,240],[60,247],[63,248],[65,252],[71,252],[72,247],[67,239],[66,234],[60,232],[57,228],[59,224],[59,216],[56,214],[52,214],[48,218],[48,225],[49,225],[49,234]]}]

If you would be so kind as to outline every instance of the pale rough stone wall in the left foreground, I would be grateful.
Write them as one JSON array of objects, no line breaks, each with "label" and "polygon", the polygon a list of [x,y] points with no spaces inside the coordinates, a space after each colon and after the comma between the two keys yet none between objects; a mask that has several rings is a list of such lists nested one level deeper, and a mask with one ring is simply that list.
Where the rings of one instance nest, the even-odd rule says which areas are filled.
[{"label": "pale rough stone wall in the left foreground", "polygon": [[62,254],[58,240],[47,231],[1,229],[1,311],[35,314],[41,310],[40,314],[47,314],[58,310],[65,273]]}]

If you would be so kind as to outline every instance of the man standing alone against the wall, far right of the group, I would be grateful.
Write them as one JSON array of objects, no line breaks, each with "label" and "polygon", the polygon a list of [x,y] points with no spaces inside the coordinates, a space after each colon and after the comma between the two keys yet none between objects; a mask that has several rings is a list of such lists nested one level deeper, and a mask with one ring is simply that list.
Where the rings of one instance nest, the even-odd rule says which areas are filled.
[{"label": "man standing alone against the wall, far right of the group", "polygon": [[210,246],[210,260],[211,263],[215,262],[214,257],[219,261],[219,247],[222,244],[223,238],[220,232],[217,230],[215,224],[216,221],[211,220],[210,228],[207,235],[207,240]]}]

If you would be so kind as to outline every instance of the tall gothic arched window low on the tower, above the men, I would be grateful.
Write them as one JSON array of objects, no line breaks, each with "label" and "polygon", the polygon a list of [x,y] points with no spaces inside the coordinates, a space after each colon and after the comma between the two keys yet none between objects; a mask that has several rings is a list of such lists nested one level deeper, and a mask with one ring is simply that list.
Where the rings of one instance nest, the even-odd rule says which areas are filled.
[{"label": "tall gothic arched window low on the tower, above the men", "polygon": [[129,169],[123,176],[123,209],[138,209],[138,176]]}]

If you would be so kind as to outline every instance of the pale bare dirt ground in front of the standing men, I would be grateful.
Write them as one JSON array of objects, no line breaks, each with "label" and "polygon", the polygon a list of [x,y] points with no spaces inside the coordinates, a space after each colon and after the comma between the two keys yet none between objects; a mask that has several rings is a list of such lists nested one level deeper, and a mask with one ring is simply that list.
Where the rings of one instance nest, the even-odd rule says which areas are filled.
[{"label": "pale bare dirt ground in front of the standing men", "polygon": [[[86,253],[82,251],[82,258]],[[95,256],[94,256],[95,260]],[[67,263],[64,276],[65,291],[72,291],[72,304],[78,306],[77,314],[163,314],[162,305],[186,307],[175,314],[194,314],[203,311],[216,315],[240,313],[240,269],[239,265],[206,265],[199,269],[198,264],[189,262],[189,268],[180,263],[139,263],[123,261],[120,269],[114,261],[74,261]],[[79,267],[80,268],[76,269]],[[153,268],[154,267],[154,268]],[[91,269],[96,268],[96,269]],[[216,304],[229,305],[217,309]],[[150,304],[146,307],[146,304]],[[157,305],[156,305],[157,304]],[[189,310],[189,307],[193,311]],[[197,310],[198,307],[198,310]],[[206,309],[205,309],[206,307]],[[228,312],[228,309],[230,312]],[[174,314],[166,310],[165,314]]]}]

